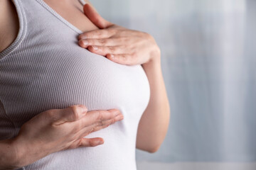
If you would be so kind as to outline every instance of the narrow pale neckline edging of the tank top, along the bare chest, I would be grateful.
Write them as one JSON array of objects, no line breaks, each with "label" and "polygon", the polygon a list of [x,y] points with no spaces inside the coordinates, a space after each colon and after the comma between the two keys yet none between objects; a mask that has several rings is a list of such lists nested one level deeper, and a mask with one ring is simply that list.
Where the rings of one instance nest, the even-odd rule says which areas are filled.
[{"label": "narrow pale neckline edging of the tank top, along the bare chest", "polygon": [[58,14],[55,10],[53,10],[53,8],[51,8],[50,6],[48,6],[48,4],[46,4],[45,1],[43,0],[36,0],[38,2],[38,4],[41,4],[41,6],[43,6],[44,8],[47,9],[47,11],[49,11],[50,13],[53,14],[53,16],[55,16],[56,18],[58,18],[60,21],[62,21],[63,23],[65,23],[66,26],[70,27],[71,29],[73,29],[76,33],[81,34],[82,30],[80,30],[79,28],[77,28],[76,26],[74,26],[72,23],[70,23],[69,21],[67,21],[65,18],[63,18],[62,16],[60,16],[60,14]]}]

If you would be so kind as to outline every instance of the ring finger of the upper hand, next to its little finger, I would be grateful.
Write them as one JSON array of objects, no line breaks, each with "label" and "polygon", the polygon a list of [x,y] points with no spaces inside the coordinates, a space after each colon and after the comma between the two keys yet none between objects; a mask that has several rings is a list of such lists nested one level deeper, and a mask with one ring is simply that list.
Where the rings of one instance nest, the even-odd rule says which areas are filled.
[{"label": "ring finger of the upper hand, next to its little finger", "polygon": [[93,52],[97,55],[103,55],[106,56],[107,54],[114,54],[114,55],[118,55],[118,54],[124,54],[127,51],[129,51],[128,47],[124,47],[122,45],[118,45],[118,46],[97,46],[97,45],[92,45],[92,46],[88,46],[88,50],[90,52]]}]

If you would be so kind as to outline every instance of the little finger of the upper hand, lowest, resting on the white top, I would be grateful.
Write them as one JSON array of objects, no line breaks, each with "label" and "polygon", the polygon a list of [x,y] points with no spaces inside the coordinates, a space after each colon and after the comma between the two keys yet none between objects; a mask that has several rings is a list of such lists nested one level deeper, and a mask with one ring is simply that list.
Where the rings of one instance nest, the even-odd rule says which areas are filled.
[{"label": "little finger of the upper hand, lowest, resting on the white top", "polygon": [[137,62],[136,57],[134,55],[129,54],[107,54],[107,59],[112,60],[112,62],[117,62],[119,64],[125,64],[125,65],[135,65],[139,64]]}]

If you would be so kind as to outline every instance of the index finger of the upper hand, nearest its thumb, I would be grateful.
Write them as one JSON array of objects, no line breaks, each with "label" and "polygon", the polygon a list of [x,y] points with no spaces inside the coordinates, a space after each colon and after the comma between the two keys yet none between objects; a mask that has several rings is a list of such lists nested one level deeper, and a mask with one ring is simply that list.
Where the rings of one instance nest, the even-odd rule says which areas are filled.
[{"label": "index finger of the upper hand, nearest its thumb", "polygon": [[90,30],[85,33],[82,33],[78,36],[78,40],[81,39],[102,39],[102,38],[110,38],[114,35],[117,30],[114,29],[104,29],[104,30]]}]

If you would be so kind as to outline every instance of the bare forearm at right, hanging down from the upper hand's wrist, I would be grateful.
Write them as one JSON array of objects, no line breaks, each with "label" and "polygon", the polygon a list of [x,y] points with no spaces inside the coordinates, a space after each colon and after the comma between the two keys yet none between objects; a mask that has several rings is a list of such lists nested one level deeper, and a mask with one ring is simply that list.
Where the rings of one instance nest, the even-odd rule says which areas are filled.
[{"label": "bare forearm at right, hanging down from the upper hand's wrist", "polygon": [[150,99],[139,122],[137,149],[156,152],[164,141],[169,126],[170,108],[161,72],[160,57],[142,64],[149,79]]}]

